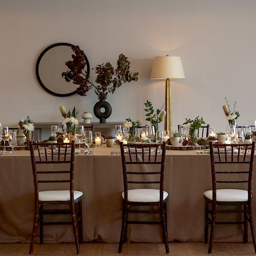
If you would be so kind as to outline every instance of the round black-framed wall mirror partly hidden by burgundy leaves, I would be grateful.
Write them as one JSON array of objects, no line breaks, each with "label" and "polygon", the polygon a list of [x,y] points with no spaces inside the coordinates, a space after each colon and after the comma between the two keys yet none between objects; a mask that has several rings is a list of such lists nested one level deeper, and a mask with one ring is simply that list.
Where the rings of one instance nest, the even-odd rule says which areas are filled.
[{"label": "round black-framed wall mirror partly hidden by burgundy leaves", "polygon": [[[59,42],[58,44],[47,47],[37,59],[37,80],[40,86],[52,95],[66,97],[76,94],[76,90],[74,90],[75,85],[72,82],[67,82],[65,78],[61,76],[62,72],[68,70],[65,63],[71,60],[72,54],[74,54],[71,49],[72,46],[72,44],[68,44],[67,42]],[[86,56],[85,59],[87,76],[89,77],[89,61]]]}]

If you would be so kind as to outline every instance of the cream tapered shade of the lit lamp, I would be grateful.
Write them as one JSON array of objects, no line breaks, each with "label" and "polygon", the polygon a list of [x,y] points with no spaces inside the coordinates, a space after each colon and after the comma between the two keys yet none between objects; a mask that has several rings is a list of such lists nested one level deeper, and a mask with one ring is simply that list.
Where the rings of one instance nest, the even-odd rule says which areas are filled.
[{"label": "cream tapered shade of the lit lamp", "polygon": [[155,57],[151,72],[151,79],[182,79],[185,78],[181,57]]}]

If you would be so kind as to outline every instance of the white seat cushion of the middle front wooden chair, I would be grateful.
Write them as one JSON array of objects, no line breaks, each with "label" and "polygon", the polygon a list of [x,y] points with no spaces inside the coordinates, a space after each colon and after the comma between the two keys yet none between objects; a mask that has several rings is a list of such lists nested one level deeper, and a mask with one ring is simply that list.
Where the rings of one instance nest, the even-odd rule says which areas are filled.
[{"label": "white seat cushion of the middle front wooden chair", "polygon": [[[163,200],[168,197],[168,193],[163,191]],[[124,192],[122,192],[124,199]],[[160,202],[160,190],[150,188],[130,189],[128,190],[129,202]]]}]

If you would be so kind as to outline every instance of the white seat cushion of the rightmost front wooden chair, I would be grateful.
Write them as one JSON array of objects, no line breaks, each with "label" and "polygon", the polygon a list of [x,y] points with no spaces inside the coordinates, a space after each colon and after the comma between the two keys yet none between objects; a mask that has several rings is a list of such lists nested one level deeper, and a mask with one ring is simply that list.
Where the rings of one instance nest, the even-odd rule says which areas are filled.
[{"label": "white seat cushion of the rightmost front wooden chair", "polygon": [[[212,190],[204,192],[204,196],[212,200]],[[216,201],[218,202],[246,202],[248,191],[242,189],[217,189]]]}]

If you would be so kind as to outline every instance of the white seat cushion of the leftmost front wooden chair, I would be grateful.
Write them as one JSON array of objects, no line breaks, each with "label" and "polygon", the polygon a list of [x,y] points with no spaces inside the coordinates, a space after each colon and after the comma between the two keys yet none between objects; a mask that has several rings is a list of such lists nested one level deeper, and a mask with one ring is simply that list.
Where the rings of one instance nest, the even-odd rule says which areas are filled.
[{"label": "white seat cushion of the leftmost front wooden chair", "polygon": [[[74,190],[74,200],[81,197],[83,193],[81,191]],[[48,190],[40,191],[38,193],[39,201],[70,201],[69,190]]]}]

